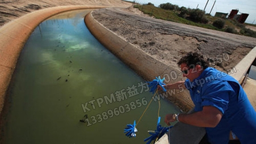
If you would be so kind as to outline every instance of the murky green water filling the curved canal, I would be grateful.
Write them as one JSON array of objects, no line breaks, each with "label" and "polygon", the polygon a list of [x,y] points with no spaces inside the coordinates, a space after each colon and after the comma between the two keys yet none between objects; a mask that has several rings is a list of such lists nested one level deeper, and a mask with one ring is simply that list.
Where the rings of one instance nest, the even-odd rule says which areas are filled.
[{"label": "murky green water filling the curved canal", "polygon": [[[153,94],[147,91],[129,98],[127,88],[134,85],[141,92],[138,83],[144,81],[90,34],[84,23],[87,12],[48,19],[31,34],[11,84],[5,143],[144,143],[150,136],[147,130],[155,130],[159,105],[153,101],[137,126],[137,137],[123,133],[146,108],[139,104],[134,108],[132,101],[149,103]],[[121,90],[127,99],[104,102],[101,107],[95,102],[95,109],[88,104],[90,111],[84,112],[82,104]],[[167,100],[160,101],[165,126],[164,116],[179,110]],[[126,104],[134,109],[122,112]],[[122,113],[112,115],[115,108]],[[96,117],[96,124],[80,122],[85,115],[91,124]]]}]

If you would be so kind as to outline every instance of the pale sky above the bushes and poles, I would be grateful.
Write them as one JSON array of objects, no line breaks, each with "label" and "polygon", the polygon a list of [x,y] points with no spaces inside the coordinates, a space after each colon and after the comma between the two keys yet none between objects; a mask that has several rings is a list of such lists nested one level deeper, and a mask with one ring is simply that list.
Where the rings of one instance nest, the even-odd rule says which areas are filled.
[{"label": "pale sky above the bushes and poles", "polygon": [[[133,1],[133,0],[129,0]],[[141,4],[147,4],[148,2],[153,3],[156,7],[158,7],[162,3],[171,3],[172,5],[178,5],[179,7],[189,7],[191,9],[200,9],[204,10],[204,7],[208,0],[134,0],[135,2]],[[207,7],[205,8],[205,12],[209,13],[212,9],[211,15],[215,15],[216,12],[224,12],[230,14],[232,9],[239,10],[238,14],[245,13],[249,14],[246,19],[246,23],[256,24],[256,0],[209,0]],[[213,6],[214,4],[214,6]],[[198,5],[198,7],[197,7]],[[241,13],[240,13],[241,12]]]}]

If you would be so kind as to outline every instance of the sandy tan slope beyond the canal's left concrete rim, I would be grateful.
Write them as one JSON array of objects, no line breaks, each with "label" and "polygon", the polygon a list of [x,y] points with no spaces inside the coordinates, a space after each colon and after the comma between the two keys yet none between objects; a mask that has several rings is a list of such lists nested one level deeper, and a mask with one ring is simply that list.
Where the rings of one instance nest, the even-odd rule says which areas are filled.
[{"label": "sandy tan slope beyond the canal's left concrete rim", "polygon": [[1,0],[0,28],[11,20],[17,19],[20,16],[26,15],[32,11],[46,9],[48,7],[68,5],[129,7],[131,3],[123,2],[121,0]]}]

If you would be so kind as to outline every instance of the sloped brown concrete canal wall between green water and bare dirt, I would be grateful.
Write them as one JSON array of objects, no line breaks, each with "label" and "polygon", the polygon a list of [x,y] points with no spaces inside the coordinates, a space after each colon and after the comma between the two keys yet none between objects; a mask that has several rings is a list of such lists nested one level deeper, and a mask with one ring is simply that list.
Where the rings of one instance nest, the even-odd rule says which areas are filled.
[{"label": "sloped brown concrete canal wall between green water and bare dirt", "polygon": [[[110,52],[126,63],[127,66],[146,81],[152,81],[158,76],[163,78],[164,74],[170,74],[171,71],[180,71],[156,60],[144,53],[141,49],[123,40],[108,28],[102,26],[102,24],[98,23],[97,20],[93,18],[92,12],[85,16],[85,24],[92,35],[96,37],[105,48],[109,49]],[[181,78],[182,76],[177,78],[176,81],[181,81]],[[172,103],[175,103],[178,108],[185,112],[194,107],[187,90],[183,92],[179,92],[178,90],[176,94],[171,96],[169,93],[167,99],[171,100]]]}]

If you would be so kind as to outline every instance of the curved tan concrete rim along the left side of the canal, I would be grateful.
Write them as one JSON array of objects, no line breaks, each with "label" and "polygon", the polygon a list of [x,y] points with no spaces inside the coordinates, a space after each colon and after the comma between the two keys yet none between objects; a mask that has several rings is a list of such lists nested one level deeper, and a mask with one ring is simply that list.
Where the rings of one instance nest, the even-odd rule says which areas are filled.
[{"label": "curved tan concrete rim along the left side of the canal", "polygon": [[31,12],[5,24],[0,29],[0,114],[19,54],[34,29],[52,15],[79,9],[100,9],[109,6],[59,6]]}]

